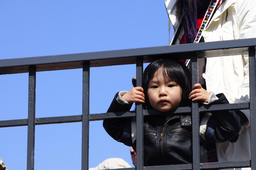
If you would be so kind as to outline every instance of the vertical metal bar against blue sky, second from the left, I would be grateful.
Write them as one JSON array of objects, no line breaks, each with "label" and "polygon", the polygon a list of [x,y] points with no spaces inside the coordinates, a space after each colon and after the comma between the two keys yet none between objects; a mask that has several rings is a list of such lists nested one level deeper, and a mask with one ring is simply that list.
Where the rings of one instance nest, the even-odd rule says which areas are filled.
[{"label": "vertical metal bar against blue sky, second from the left", "polygon": [[82,104],[82,170],[89,168],[89,90],[90,62],[83,62],[83,104]]}]

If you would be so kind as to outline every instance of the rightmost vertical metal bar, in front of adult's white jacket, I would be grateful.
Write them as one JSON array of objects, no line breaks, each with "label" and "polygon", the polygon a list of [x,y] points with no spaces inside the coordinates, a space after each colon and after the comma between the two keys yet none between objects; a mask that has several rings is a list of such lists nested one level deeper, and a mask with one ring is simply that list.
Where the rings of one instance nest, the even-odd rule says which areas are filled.
[{"label": "rightmost vertical metal bar, in front of adult's white jacket", "polygon": [[250,120],[251,120],[251,166],[256,169],[256,90],[255,90],[255,47],[249,47],[250,75]]}]

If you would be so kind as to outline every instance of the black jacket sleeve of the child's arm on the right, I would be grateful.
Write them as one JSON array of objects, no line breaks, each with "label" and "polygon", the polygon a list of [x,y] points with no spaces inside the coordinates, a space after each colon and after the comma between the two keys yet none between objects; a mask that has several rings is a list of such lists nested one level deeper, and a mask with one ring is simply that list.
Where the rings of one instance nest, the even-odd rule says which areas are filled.
[{"label": "black jacket sleeve of the child's arm on the right", "polygon": [[[216,95],[219,99],[212,104],[228,104],[223,93]],[[231,140],[236,142],[241,126],[248,121],[247,117],[240,110],[234,111],[212,111],[207,122],[205,142],[225,142]],[[236,139],[236,140],[234,140]]]}]

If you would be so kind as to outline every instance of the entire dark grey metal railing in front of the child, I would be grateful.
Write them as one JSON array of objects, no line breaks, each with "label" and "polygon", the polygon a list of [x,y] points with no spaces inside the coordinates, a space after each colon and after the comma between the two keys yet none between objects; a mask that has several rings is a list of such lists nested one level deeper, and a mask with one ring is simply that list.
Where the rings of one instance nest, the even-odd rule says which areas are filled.
[{"label": "entire dark grey metal railing in front of the child", "polygon": [[[0,60],[0,75],[29,73],[28,91],[28,119],[13,119],[0,121],[0,127],[28,126],[28,154],[27,169],[34,170],[34,150],[35,150],[35,125],[82,122],[82,170],[88,169],[89,157],[89,121],[97,121],[115,117],[136,117],[137,122],[137,169],[213,169],[231,167],[252,167],[256,169],[256,90],[255,90],[255,47],[256,38],[204,42],[197,44],[183,44],[173,46],[134,48],[113,51],[101,51],[68,55],[53,55],[29,58],[16,58]],[[120,113],[89,113],[89,80],[90,68],[110,65],[135,64],[137,71],[137,86],[141,86],[143,63],[148,63],[159,56],[171,56],[178,59],[188,59],[192,61],[192,84],[197,83],[197,59],[206,57],[244,55],[249,54],[250,71],[250,102],[212,105],[208,107],[198,107],[197,102],[193,102],[191,107],[180,107],[174,113],[192,112],[192,137],[193,137],[193,163],[184,165],[166,166],[143,166],[143,116],[161,114],[152,110],[143,110],[141,104],[136,104],[136,111]],[[82,115],[59,116],[59,117],[35,117],[35,86],[36,72],[49,70],[67,70],[83,68],[83,101]],[[1,96],[4,97],[4,96]],[[250,109],[251,114],[251,160],[241,160],[236,162],[216,162],[200,163],[199,160],[199,112],[206,110],[234,110]],[[196,140],[195,140],[196,139]],[[134,169],[134,168],[126,168]]]}]

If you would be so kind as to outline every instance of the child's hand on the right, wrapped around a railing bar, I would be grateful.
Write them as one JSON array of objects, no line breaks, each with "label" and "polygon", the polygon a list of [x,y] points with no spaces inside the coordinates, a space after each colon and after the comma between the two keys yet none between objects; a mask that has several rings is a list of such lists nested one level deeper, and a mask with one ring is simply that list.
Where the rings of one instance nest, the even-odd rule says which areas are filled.
[{"label": "child's hand on the right, wrapped around a railing bar", "polygon": [[195,84],[193,86],[193,89],[195,90],[190,92],[188,99],[192,99],[192,101],[202,100],[204,102],[209,99],[211,93],[203,89],[201,84]]}]

